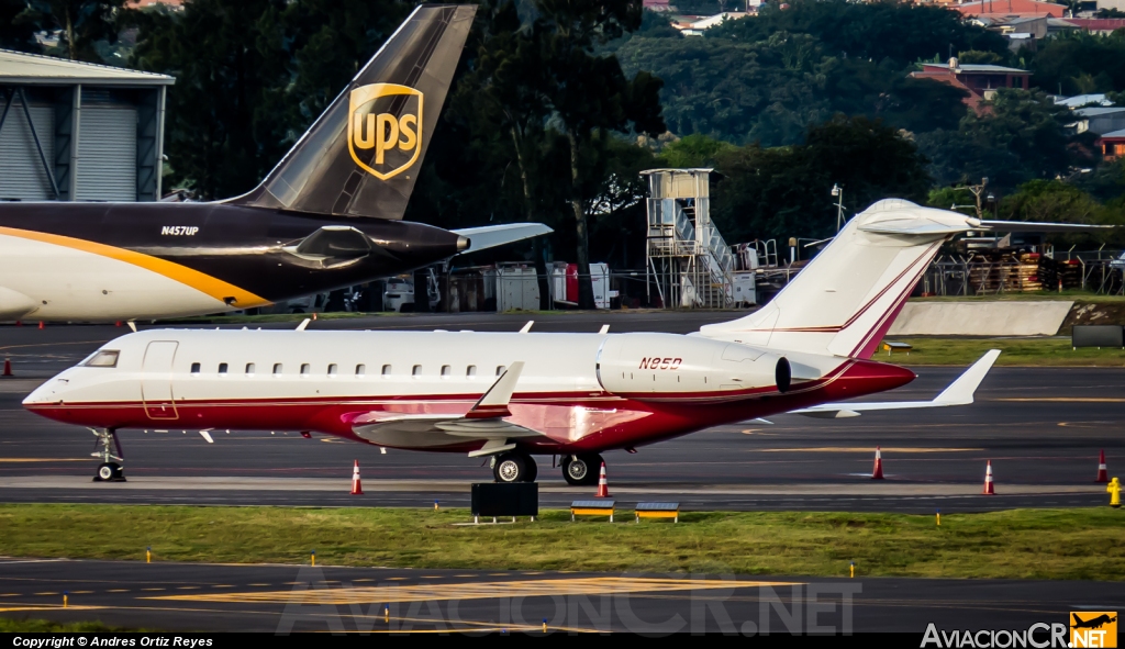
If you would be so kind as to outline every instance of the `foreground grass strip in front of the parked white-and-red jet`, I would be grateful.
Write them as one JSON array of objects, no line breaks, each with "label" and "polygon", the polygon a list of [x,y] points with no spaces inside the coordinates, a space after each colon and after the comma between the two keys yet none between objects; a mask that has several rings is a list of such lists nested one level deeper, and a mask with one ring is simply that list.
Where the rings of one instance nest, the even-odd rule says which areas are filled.
[{"label": "foreground grass strip in front of the parked white-and-red jet", "polygon": [[465,510],[0,505],[0,555],[411,568],[1125,579],[1125,512],[688,512],[457,526]]}]

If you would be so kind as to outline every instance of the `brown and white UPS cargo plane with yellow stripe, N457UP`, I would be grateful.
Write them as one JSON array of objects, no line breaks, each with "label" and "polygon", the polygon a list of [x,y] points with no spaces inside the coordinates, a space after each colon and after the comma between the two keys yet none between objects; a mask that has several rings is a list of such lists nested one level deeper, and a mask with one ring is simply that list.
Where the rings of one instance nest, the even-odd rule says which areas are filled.
[{"label": "brown and white UPS cargo plane with yellow stripe, N457UP", "polygon": [[0,202],[0,321],[246,309],[549,233],[402,220],[474,12],[415,9],[244,196]]}]

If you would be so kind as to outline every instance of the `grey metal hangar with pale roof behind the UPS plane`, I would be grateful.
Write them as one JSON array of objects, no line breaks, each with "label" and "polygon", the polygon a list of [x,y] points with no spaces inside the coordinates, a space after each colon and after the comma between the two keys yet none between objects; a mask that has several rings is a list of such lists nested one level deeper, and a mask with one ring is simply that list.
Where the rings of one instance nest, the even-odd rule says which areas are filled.
[{"label": "grey metal hangar with pale roof behind the UPS plane", "polygon": [[159,200],[174,82],[0,49],[0,200]]}]

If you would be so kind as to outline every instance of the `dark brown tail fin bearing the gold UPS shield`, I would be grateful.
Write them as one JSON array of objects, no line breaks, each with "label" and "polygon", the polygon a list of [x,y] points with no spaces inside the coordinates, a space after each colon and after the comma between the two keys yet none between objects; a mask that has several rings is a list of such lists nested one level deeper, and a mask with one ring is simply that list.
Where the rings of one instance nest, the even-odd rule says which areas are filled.
[{"label": "dark brown tail fin bearing the gold UPS shield", "polygon": [[475,12],[415,9],[266,180],[225,202],[400,219]]}]

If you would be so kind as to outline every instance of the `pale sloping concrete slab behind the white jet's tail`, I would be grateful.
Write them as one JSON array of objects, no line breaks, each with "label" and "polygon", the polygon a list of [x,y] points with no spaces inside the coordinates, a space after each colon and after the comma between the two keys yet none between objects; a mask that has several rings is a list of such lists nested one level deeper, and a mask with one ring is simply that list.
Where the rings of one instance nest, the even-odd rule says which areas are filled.
[{"label": "pale sloping concrete slab behind the white jet's tail", "polygon": [[908,301],[886,335],[1053,336],[1073,301]]}]

